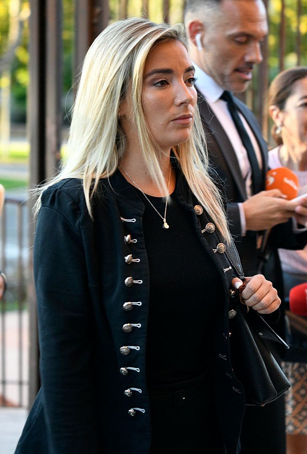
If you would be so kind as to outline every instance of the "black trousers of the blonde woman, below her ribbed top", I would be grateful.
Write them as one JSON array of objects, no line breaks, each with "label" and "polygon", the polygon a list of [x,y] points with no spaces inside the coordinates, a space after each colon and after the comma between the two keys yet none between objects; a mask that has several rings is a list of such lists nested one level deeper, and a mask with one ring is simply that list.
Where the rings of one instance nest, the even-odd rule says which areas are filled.
[{"label": "black trousers of the blonde woman, below her ribbed top", "polygon": [[[149,390],[151,454],[225,454],[213,392],[202,378]],[[214,446],[214,451],[212,450]]]}]

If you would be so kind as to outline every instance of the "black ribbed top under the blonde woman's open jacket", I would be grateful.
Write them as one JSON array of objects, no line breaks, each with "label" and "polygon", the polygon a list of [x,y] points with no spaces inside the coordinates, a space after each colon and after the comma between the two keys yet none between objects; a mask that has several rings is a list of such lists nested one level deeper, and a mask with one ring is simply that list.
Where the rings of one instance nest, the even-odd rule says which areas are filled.
[{"label": "black ribbed top under the blonde woman's open jacket", "polygon": [[[214,326],[223,308],[218,270],[197,236],[193,215],[174,193],[163,220],[139,191],[145,205],[143,230],[150,293],[146,351],[149,388],[175,384],[205,373],[213,352]],[[148,196],[164,216],[165,198]]]}]

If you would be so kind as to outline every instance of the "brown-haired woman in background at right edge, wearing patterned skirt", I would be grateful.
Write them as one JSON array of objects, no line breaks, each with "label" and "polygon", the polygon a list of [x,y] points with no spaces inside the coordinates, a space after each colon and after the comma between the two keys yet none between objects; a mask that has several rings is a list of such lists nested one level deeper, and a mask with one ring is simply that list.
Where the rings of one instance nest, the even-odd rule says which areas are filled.
[{"label": "brown-haired woman in background at right edge, wearing patterned skirt", "polygon": [[[272,135],[277,147],[269,153],[269,167],[287,167],[307,192],[307,67],[282,71],[269,90]],[[285,295],[307,282],[307,245],[301,251],[279,249]],[[286,394],[287,454],[307,454],[307,364],[285,362],[292,387]]]}]

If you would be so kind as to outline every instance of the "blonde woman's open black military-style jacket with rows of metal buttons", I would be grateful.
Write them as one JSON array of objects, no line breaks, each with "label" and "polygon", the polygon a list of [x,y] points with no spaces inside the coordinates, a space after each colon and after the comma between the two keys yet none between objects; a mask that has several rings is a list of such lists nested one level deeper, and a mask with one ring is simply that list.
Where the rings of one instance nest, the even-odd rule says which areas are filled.
[{"label": "blonde woman's open black military-style jacket with rows of metal buttons", "polygon": [[[243,277],[243,272],[234,246],[218,237],[180,172],[175,191],[193,213],[200,244],[223,282],[212,367],[220,429],[228,453],[235,454],[244,393],[229,358],[228,303],[233,274]],[[43,193],[34,249],[41,388],[17,454],[149,453],[143,212],[137,191],[119,171],[99,183],[94,221],[80,180],[63,180]]]}]

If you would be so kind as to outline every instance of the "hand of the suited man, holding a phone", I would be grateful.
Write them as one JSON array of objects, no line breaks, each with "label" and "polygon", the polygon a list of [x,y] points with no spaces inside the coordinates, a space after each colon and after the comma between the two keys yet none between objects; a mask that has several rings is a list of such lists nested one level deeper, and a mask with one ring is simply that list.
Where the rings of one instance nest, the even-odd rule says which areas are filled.
[{"label": "hand of the suited man, holding a phone", "polygon": [[243,202],[246,221],[246,230],[267,230],[290,217],[297,218],[297,222],[304,223],[307,218],[307,198],[302,197],[299,202],[285,200],[279,189],[261,191]]}]

